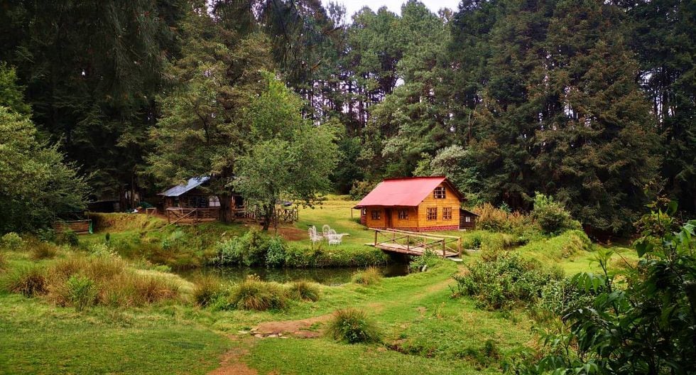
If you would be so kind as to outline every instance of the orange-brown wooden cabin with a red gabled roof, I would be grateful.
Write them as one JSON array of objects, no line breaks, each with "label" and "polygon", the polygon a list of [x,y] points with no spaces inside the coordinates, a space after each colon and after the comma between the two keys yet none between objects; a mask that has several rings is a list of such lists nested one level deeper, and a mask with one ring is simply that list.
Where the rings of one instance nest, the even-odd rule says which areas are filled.
[{"label": "orange-brown wooden cabin with a red gabled roof", "polygon": [[354,208],[360,210],[360,222],[369,228],[455,230],[462,224],[460,206],[465,200],[444,176],[389,178]]}]

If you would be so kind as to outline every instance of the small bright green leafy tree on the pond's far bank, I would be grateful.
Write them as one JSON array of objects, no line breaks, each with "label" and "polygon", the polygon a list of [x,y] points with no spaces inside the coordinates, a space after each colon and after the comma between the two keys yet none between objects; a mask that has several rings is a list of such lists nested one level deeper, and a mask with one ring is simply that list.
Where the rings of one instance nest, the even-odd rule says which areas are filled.
[{"label": "small bright green leafy tree on the pond's far bank", "polygon": [[251,138],[236,164],[233,185],[250,205],[261,208],[267,230],[281,199],[313,205],[330,190],[338,149],[331,129],[303,119],[296,94],[270,74],[265,80],[266,91],[246,112]]}]

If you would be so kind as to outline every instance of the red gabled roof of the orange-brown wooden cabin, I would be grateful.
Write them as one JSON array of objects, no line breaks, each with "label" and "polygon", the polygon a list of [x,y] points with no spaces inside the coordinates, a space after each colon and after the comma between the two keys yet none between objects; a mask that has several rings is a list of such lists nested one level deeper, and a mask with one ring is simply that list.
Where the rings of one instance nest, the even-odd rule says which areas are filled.
[{"label": "red gabled roof of the orange-brown wooden cabin", "polygon": [[428,195],[441,183],[447,184],[460,200],[464,200],[457,188],[444,176],[388,178],[366,195],[355,208],[366,206],[402,206],[420,205]]}]

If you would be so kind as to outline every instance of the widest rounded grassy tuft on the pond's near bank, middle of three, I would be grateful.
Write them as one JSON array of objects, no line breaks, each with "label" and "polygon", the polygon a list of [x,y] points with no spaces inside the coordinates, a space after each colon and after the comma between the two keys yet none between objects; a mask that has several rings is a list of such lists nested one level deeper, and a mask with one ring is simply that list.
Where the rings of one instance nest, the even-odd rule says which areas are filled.
[{"label": "widest rounded grassy tuft on the pond's near bank, middle of three", "polygon": [[249,276],[236,285],[229,297],[229,305],[239,310],[281,310],[287,303],[281,286],[261,281],[258,276]]}]

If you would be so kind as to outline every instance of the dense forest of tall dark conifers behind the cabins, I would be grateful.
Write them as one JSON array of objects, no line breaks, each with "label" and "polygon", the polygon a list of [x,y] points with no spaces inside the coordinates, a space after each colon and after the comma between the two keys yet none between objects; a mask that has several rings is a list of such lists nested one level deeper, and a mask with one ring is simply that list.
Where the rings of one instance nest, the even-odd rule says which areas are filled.
[{"label": "dense forest of tall dark conifers behind the cabins", "polygon": [[[359,196],[382,178],[447,175],[470,205],[524,212],[540,192],[589,230],[626,234],[656,200],[696,211],[695,14],[678,0],[437,13],[407,1],[400,15],[316,0],[10,1],[0,104],[65,156],[73,192],[125,210],[195,175],[229,188],[271,141],[249,136],[271,72],[308,122],[301,138],[332,143],[317,188]],[[79,199],[65,200],[38,216]]]}]

